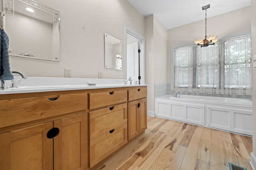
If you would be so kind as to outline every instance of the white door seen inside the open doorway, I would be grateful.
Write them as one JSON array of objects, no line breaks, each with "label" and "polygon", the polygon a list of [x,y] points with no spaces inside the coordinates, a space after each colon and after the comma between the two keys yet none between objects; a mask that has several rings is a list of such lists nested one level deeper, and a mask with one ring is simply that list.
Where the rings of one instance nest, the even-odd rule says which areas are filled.
[{"label": "white door seen inside the open doorway", "polygon": [[138,41],[127,45],[127,78],[132,78],[132,84],[138,80]]}]

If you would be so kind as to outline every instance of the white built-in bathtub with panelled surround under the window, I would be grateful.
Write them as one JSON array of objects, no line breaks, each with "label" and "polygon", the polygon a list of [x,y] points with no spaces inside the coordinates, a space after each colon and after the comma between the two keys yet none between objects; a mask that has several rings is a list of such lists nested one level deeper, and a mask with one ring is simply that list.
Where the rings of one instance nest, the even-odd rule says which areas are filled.
[{"label": "white built-in bathtub with panelled surround under the window", "polygon": [[248,99],[164,95],[155,98],[155,116],[252,136],[252,101]]}]

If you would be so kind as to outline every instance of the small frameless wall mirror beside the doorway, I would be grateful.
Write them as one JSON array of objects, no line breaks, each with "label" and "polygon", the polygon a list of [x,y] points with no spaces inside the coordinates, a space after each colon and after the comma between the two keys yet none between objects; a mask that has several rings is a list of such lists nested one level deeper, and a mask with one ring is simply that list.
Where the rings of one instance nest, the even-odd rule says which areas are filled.
[{"label": "small frameless wall mirror beside the doorway", "polygon": [[106,33],[105,68],[122,70],[122,41]]}]

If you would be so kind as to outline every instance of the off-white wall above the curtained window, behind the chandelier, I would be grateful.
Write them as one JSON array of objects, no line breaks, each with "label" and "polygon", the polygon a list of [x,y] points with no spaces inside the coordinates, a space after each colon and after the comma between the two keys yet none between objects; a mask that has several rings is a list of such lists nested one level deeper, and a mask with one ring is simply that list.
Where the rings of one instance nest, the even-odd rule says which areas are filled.
[{"label": "off-white wall above the curtained window, behind the chandelier", "polygon": [[[250,6],[207,18],[207,35],[226,39],[251,34]],[[205,20],[189,23],[168,30],[168,78],[171,77],[171,48],[194,45],[195,39],[204,39]],[[169,79],[171,82],[171,78]]]}]

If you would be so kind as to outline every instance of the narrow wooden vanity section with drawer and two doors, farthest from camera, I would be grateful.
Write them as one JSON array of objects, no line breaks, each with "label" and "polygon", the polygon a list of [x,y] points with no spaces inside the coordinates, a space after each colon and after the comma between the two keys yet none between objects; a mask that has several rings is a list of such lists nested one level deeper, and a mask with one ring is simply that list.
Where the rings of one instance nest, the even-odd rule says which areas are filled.
[{"label": "narrow wooden vanity section with drawer and two doors, farthest from camera", "polygon": [[[136,137],[147,129],[146,88],[128,91],[128,96],[134,94],[140,100],[128,102],[128,140]],[[129,98],[131,99],[131,98]],[[132,99],[136,99],[132,97]]]}]

